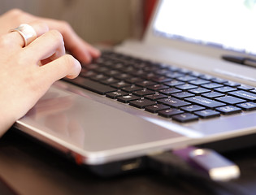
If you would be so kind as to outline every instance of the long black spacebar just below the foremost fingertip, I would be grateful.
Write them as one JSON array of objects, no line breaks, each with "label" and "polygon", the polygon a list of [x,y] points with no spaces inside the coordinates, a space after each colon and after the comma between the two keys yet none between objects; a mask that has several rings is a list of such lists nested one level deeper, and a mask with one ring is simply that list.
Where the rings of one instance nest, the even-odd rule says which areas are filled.
[{"label": "long black spacebar just below the foremost fingertip", "polygon": [[111,88],[110,86],[107,85],[102,85],[98,82],[95,82],[93,80],[85,79],[82,77],[77,77],[76,79],[70,80],[70,79],[65,79],[66,81],[78,85],[84,89],[88,89],[90,91],[93,91],[95,93],[104,95],[108,92],[113,92],[116,91],[115,88]]}]

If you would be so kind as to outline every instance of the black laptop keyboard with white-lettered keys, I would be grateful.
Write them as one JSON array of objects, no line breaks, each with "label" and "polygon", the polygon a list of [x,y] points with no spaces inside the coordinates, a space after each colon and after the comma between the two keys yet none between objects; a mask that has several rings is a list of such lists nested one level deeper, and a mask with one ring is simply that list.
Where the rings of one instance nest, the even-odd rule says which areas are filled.
[{"label": "black laptop keyboard with white-lettered keys", "polygon": [[180,123],[256,109],[254,87],[112,51],[65,80]]}]

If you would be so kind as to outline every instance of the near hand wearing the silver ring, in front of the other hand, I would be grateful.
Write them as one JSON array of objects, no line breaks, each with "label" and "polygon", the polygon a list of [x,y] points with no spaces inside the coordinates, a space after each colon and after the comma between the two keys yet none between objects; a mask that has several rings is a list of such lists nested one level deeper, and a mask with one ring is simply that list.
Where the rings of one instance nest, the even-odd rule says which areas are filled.
[{"label": "near hand wearing the silver ring, in front of the other hand", "polygon": [[37,39],[26,47],[18,32],[0,36],[0,136],[27,113],[54,81],[80,73],[80,63],[65,54],[63,36],[45,23],[30,24]]}]

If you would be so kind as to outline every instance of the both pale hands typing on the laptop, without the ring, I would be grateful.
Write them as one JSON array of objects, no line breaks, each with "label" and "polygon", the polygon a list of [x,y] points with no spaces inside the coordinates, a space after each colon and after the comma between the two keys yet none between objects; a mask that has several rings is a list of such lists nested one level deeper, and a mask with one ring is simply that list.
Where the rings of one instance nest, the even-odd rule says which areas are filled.
[{"label": "both pale hands typing on the laptop, without the ring", "polygon": [[[24,47],[20,24],[30,24],[37,39]],[[66,22],[11,10],[0,16],[0,137],[24,116],[56,80],[76,78],[80,62],[89,63],[100,52],[80,37]],[[71,54],[66,54],[66,50]],[[77,59],[79,60],[77,60]]]}]

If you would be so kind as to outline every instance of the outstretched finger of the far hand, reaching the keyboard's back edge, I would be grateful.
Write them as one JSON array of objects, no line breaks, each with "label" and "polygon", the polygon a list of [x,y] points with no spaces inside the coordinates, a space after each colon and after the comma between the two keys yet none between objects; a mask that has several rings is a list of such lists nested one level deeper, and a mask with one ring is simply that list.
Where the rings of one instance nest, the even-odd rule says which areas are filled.
[{"label": "outstretched finger of the far hand, reaching the keyboard's back edge", "polygon": [[57,29],[62,33],[67,50],[74,54],[82,63],[89,63],[92,58],[100,56],[100,51],[82,40],[66,22],[50,19],[41,20],[45,21],[50,29]]}]

